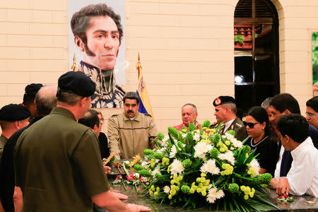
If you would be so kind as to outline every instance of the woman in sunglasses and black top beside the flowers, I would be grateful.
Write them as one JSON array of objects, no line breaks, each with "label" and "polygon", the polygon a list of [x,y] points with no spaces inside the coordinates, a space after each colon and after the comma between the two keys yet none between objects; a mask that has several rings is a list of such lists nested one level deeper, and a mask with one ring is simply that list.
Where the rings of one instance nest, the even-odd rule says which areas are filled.
[{"label": "woman in sunglasses and black top beside the flowers", "polygon": [[273,140],[273,132],[269,125],[269,115],[263,107],[252,107],[245,117],[245,127],[247,134],[251,137],[246,145],[256,149],[259,173],[269,172],[273,175],[276,167],[277,143]]}]

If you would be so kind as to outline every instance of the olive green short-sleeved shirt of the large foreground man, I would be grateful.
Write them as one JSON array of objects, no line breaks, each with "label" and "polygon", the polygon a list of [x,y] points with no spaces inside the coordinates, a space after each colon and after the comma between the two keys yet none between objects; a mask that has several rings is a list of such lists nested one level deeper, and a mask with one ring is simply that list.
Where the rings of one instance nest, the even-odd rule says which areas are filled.
[{"label": "olive green short-sleeved shirt of the large foreground man", "polygon": [[93,211],[90,196],[109,189],[97,136],[65,108],[25,130],[14,157],[23,211]]}]

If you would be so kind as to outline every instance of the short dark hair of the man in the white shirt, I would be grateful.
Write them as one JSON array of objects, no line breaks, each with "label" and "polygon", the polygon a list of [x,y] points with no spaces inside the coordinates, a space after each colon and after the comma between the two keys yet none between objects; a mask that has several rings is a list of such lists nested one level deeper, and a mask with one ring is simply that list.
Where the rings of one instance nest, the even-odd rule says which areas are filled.
[{"label": "short dark hair of the man in the white shirt", "polygon": [[300,114],[285,114],[278,119],[278,131],[282,136],[288,135],[298,143],[302,143],[308,137],[308,122]]}]

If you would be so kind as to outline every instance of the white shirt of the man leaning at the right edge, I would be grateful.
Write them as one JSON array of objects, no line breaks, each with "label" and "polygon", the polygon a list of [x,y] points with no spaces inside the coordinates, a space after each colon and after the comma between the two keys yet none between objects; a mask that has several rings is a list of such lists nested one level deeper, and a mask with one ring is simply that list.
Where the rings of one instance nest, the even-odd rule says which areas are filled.
[{"label": "white shirt of the man leaning at the right edge", "polygon": [[293,163],[287,174],[290,194],[318,197],[318,150],[308,137],[291,151]]}]

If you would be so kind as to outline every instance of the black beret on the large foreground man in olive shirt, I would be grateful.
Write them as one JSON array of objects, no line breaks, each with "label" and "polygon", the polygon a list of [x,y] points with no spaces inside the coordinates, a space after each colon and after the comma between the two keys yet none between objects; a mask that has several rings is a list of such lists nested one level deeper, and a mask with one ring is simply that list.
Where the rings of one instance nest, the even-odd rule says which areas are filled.
[{"label": "black beret on the large foreground man in olive shirt", "polygon": [[71,91],[82,97],[89,97],[95,92],[95,83],[81,71],[69,71],[59,77],[59,89]]}]

